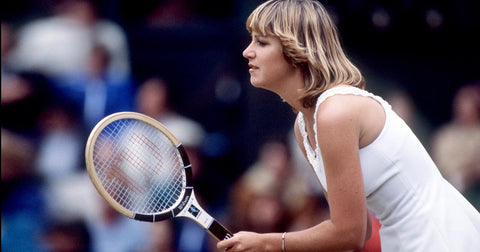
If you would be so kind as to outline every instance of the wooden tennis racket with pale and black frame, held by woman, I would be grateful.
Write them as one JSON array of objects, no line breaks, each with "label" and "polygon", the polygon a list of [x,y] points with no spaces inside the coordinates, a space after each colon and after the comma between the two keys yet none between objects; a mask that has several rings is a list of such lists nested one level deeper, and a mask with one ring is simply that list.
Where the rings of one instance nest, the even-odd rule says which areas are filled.
[{"label": "wooden tennis racket with pale and black frame, held by woman", "polygon": [[95,188],[121,214],[149,222],[187,217],[219,241],[233,236],[198,204],[187,153],[157,120],[105,117],[88,137],[85,160]]}]

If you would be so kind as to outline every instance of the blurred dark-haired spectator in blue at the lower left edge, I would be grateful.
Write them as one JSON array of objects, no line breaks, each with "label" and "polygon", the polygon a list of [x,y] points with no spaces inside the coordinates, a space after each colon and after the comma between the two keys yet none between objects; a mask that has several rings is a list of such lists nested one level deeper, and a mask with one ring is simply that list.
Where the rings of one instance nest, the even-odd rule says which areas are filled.
[{"label": "blurred dark-haired spectator in blue at the lower left edge", "polygon": [[2,251],[42,251],[46,224],[33,142],[2,129]]}]

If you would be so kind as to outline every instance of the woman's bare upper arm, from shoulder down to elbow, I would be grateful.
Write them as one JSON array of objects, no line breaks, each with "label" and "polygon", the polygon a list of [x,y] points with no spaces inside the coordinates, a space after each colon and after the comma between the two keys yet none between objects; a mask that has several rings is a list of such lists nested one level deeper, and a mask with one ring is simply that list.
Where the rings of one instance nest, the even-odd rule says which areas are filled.
[{"label": "woman's bare upper arm, from shoulder down to elbow", "polygon": [[331,97],[319,107],[317,141],[325,167],[331,220],[346,230],[365,232],[360,131],[358,106],[349,96]]}]

